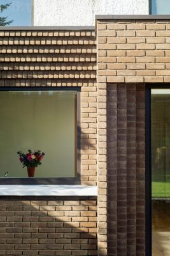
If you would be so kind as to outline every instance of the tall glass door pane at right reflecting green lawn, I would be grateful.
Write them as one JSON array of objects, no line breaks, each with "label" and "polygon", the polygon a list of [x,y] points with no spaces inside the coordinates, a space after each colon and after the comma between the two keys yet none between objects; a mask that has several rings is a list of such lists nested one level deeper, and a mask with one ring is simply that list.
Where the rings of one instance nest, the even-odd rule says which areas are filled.
[{"label": "tall glass door pane at right reflecting green lawn", "polygon": [[152,256],[170,256],[170,90],[152,90]]}]

